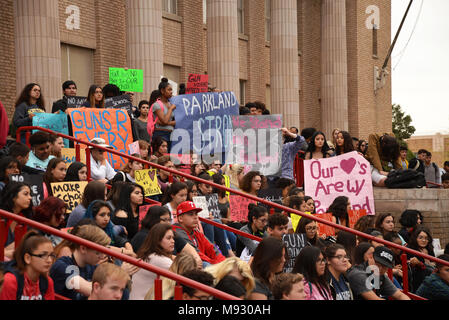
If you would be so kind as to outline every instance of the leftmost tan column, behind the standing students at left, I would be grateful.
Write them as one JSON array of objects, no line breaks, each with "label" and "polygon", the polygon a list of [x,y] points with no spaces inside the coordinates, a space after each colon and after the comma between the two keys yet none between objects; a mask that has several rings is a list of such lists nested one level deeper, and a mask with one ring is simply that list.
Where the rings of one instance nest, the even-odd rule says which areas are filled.
[{"label": "leftmost tan column, behind the standing students at left", "polygon": [[47,111],[62,96],[58,0],[15,0],[17,92],[42,89]]}]

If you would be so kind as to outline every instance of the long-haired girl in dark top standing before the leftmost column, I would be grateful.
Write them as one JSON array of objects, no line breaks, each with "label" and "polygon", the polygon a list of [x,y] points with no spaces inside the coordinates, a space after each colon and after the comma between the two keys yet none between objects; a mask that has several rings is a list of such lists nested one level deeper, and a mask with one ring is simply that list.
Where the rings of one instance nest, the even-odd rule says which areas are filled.
[{"label": "long-haired girl in dark top standing before the leftmost column", "polygon": [[[36,113],[45,112],[44,97],[41,87],[37,83],[27,84],[14,104],[13,125],[16,129],[33,125],[33,117]],[[25,141],[25,131],[20,134],[20,141]]]}]

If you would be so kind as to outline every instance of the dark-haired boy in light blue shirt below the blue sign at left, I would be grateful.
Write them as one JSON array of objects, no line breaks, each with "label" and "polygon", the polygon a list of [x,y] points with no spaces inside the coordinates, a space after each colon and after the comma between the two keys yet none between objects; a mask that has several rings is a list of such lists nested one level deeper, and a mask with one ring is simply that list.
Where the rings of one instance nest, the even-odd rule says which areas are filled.
[{"label": "dark-haired boy in light blue shirt below the blue sign at left", "polygon": [[38,131],[30,136],[31,152],[26,165],[41,172],[47,170],[48,162],[55,156],[50,155],[50,135]]}]

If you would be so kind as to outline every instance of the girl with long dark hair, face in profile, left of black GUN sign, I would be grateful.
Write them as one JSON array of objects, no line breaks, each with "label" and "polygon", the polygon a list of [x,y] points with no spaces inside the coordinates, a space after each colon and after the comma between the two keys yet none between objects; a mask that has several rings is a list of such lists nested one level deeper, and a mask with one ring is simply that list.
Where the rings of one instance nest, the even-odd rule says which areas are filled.
[{"label": "girl with long dark hair, face in profile, left of black GUN sign", "polygon": [[271,286],[277,273],[285,264],[286,248],[282,240],[268,237],[263,239],[254,252],[251,270],[256,281],[248,300],[273,300]]}]

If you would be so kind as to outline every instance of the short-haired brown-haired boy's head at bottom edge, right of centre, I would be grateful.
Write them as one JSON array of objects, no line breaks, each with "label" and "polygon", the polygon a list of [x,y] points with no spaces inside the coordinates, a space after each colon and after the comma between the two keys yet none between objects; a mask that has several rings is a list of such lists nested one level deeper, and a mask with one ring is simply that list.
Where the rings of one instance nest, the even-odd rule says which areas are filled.
[{"label": "short-haired brown-haired boy's head at bottom edge, right of centre", "polygon": [[280,273],[274,277],[274,300],[306,300],[304,277],[300,273]]}]

